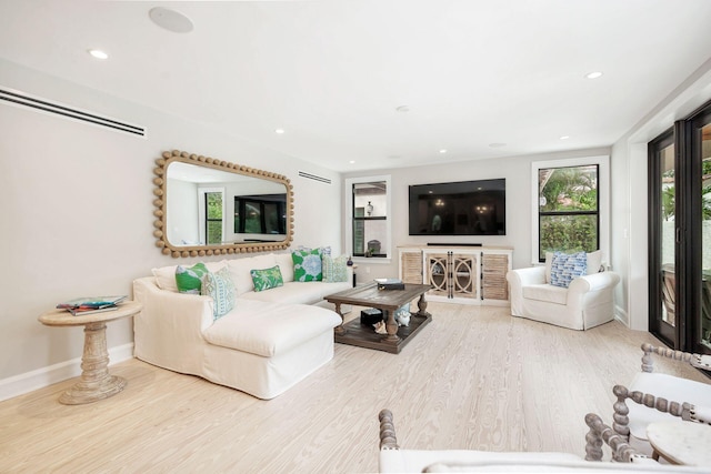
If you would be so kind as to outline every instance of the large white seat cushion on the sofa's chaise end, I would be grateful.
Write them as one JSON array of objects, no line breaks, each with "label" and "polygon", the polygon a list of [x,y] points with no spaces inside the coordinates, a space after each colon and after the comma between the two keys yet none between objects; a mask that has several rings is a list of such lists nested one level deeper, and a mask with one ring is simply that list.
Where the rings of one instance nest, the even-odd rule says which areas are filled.
[{"label": "large white seat cushion on the sofa's chaise end", "polygon": [[340,323],[338,314],[323,307],[241,300],[202,334],[210,344],[271,357]]}]

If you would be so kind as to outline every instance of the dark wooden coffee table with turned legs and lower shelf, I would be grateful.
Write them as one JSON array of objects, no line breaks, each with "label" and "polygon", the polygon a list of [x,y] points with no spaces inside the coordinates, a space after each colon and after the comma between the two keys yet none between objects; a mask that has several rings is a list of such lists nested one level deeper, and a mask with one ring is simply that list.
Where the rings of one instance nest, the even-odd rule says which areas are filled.
[{"label": "dark wooden coffee table with turned legs and lower shelf", "polygon": [[[404,290],[378,290],[378,284],[373,282],[326,296],[324,300],[333,303],[336,312],[341,316],[341,325],[333,330],[334,341],[341,344],[399,354],[402,347],[432,321],[432,315],[427,312],[427,301],[424,301],[424,293],[431,288],[427,284],[408,283],[404,285]],[[415,297],[419,297],[419,311],[411,313],[409,326],[398,327],[394,319],[395,310]],[[361,324],[359,319],[343,324],[342,304],[375,307],[382,311],[388,334],[378,334],[373,326]]]}]

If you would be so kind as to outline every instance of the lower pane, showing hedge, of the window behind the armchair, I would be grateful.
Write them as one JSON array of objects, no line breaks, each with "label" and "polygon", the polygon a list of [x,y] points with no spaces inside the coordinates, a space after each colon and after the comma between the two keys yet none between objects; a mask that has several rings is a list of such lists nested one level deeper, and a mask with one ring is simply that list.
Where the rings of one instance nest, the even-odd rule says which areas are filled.
[{"label": "lower pane, showing hedge, of the window behind the armchair", "polygon": [[594,252],[598,250],[598,215],[541,215],[540,255],[545,252]]}]

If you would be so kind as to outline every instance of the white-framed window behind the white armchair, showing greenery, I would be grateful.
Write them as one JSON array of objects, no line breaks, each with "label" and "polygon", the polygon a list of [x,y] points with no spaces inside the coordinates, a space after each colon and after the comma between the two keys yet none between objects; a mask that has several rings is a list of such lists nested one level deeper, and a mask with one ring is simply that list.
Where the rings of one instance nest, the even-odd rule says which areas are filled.
[{"label": "white-framed window behind the white armchair, showing greenery", "polygon": [[532,261],[545,252],[593,252],[609,258],[609,157],[532,163]]}]

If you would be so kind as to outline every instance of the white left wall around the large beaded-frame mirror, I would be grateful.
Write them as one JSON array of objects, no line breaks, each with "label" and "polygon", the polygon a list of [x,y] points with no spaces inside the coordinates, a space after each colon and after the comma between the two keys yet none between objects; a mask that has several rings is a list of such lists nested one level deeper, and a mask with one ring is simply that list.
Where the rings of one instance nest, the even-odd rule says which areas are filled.
[{"label": "white left wall around the large beaded-frame mirror", "polygon": [[[0,103],[0,399],[3,381],[67,361],[78,370],[82,329],[44,326],[42,312],[70,297],[131,294],[133,279],[178,262],[152,235],[153,168],[164,150],[284,174],[294,191],[293,244],[340,252],[339,173],[10,62],[0,61],[0,85],[148,130],[142,139]],[[110,349],[131,342],[131,320],[108,324]]]}]

